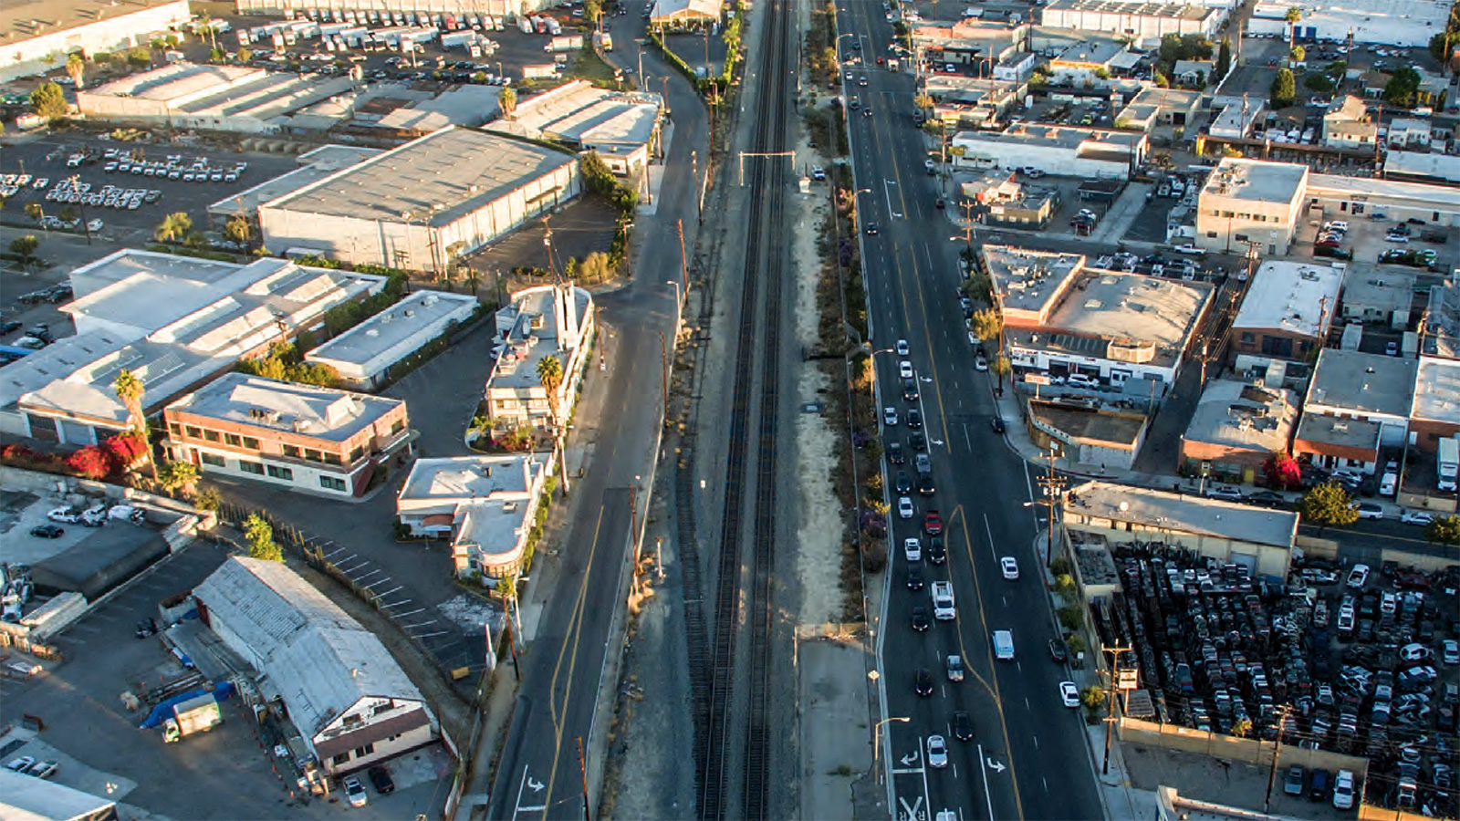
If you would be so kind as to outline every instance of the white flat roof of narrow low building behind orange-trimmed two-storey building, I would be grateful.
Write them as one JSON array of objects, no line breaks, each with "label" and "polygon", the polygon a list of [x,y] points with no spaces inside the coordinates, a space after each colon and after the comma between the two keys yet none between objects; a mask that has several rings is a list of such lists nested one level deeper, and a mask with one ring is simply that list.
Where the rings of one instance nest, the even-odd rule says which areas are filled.
[{"label": "white flat roof of narrow low building behind orange-trimmed two-storey building", "polygon": [[[371,362],[393,352],[397,346],[413,343],[419,348],[438,336],[445,321],[460,311],[476,307],[470,294],[447,294],[444,291],[416,291],[390,308],[310,351],[305,359],[339,365],[358,365],[365,374],[380,368]],[[420,337],[420,339],[416,339]],[[390,362],[387,362],[388,365]]]}]

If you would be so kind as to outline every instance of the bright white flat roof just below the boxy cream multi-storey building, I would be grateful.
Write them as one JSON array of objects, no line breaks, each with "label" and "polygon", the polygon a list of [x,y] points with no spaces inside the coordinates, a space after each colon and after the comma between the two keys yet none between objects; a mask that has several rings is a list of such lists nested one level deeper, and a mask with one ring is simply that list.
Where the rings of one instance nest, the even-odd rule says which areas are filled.
[{"label": "bright white flat roof just below the boxy cream multi-storey building", "polygon": [[1320,336],[1333,324],[1343,269],[1313,263],[1264,261],[1253,275],[1234,329]]}]

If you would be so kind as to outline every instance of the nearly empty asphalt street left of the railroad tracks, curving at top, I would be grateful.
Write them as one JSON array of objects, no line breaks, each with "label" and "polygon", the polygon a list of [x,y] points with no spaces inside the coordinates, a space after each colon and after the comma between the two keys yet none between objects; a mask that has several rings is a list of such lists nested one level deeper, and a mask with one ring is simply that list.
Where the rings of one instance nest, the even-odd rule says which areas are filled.
[{"label": "nearly empty asphalt street left of the railroad tracks, curving at top", "polygon": [[[638,4],[616,18],[616,29],[641,28]],[[632,26],[625,20],[634,20]],[[631,32],[623,32],[634,37]],[[615,31],[619,35],[619,31]],[[637,66],[637,53],[609,54],[619,67]],[[607,714],[600,713],[600,684],[613,681],[620,644],[615,628],[622,618],[629,561],[629,530],[642,527],[642,511],[653,486],[660,431],[660,332],[673,335],[676,294],[669,280],[680,279],[679,234],[694,245],[698,231],[691,152],[704,153],[708,142],[704,105],[688,82],[657,54],[644,53],[644,70],[670,77],[669,107],[675,137],[667,146],[661,187],[651,207],[635,225],[632,280],[599,298],[607,346],[607,378],[599,380],[600,406],[591,425],[591,460],[587,475],[574,482],[571,535],[562,541],[558,593],[542,614],[539,630],[523,662],[520,700],[491,784],[491,818],[577,818],[583,815],[584,777],[577,738],[583,739],[587,780],[602,770]],[[647,399],[647,400],[645,400]],[[575,447],[569,437],[569,454]],[[569,463],[577,460],[569,456]],[[629,488],[637,488],[638,517],[629,514]],[[607,687],[612,695],[612,685]],[[482,751],[488,757],[491,751]],[[480,792],[485,784],[473,784]],[[599,802],[591,792],[591,805]]]}]

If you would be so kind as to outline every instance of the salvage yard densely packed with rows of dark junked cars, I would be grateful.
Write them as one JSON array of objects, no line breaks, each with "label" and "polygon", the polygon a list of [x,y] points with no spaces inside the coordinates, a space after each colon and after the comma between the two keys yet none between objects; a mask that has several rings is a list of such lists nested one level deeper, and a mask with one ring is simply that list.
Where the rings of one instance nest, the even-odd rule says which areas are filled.
[{"label": "salvage yard densely packed with rows of dark junked cars", "polygon": [[1165,545],[1111,555],[1101,640],[1133,647],[1156,720],[1365,757],[1367,802],[1454,815],[1460,568],[1311,560],[1279,584]]}]

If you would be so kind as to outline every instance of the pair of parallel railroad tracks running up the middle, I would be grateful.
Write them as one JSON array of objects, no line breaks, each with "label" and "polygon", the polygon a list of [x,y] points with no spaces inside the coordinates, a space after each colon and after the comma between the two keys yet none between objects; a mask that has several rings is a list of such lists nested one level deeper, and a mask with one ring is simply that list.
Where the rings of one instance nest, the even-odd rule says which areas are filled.
[{"label": "pair of parallel railroad tracks running up the middle", "polygon": [[[787,120],[787,54],[790,13],[785,0],[766,3],[766,38],[759,77],[765,82],[758,99],[752,153],[784,150]],[[777,416],[780,402],[781,278],[784,247],[775,240],[784,231],[785,171],[777,159],[758,158],[750,169],[745,279],[736,340],[734,381],[730,403],[730,453],[726,475],[726,507],[721,520],[720,555],[715,574],[715,638],[710,672],[710,704],[705,717],[704,780],[699,815],[705,821],[726,817],[731,767],[740,757],[740,814],[761,820],[769,812],[769,669],[774,630],[771,570],[775,558],[775,470]],[[761,288],[764,285],[764,297]],[[749,435],[755,355],[761,351],[761,402],[756,431]],[[748,460],[755,456],[753,546],[749,587],[742,587],[742,539],[746,514]],[[737,716],[736,672],[742,624],[740,602],[749,614],[746,653],[748,694]],[[740,717],[743,722],[737,722]]]}]

